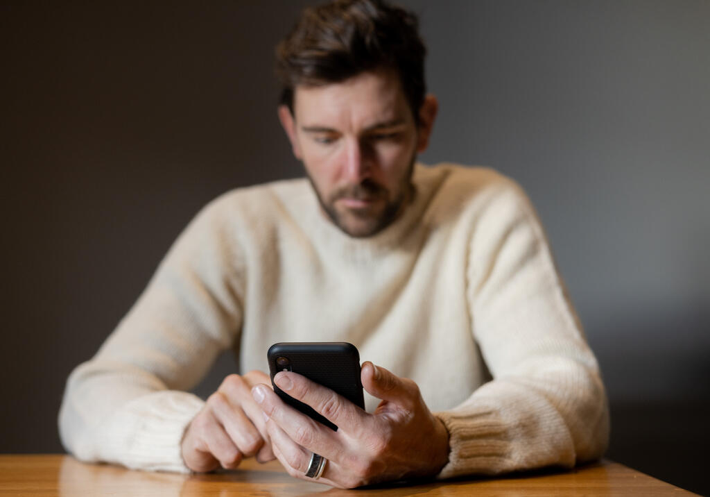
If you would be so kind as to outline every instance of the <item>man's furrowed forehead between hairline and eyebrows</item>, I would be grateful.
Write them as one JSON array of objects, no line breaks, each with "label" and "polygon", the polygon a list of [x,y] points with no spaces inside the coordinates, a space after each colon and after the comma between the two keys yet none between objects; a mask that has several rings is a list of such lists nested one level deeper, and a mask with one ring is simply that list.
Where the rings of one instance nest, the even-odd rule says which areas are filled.
[{"label": "man's furrowed forehead between hairline and eyebrows", "polygon": [[411,118],[398,75],[390,71],[361,73],[343,82],[298,86],[294,114],[303,126],[368,126]]}]

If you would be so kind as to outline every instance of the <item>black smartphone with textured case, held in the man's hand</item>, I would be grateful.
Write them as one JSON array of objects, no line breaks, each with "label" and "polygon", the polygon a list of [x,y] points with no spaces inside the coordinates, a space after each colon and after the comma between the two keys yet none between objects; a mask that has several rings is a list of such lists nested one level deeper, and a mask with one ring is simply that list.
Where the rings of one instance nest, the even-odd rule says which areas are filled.
[{"label": "black smartphone with textured case, held in the man's hand", "polygon": [[339,393],[353,404],[365,408],[360,380],[360,354],[352,343],[346,342],[281,342],[269,347],[268,368],[271,385],[276,395],[291,407],[325,424],[330,429],[338,429],[315,412],[309,405],[283,392],[273,383],[273,377],[280,371],[293,371],[309,380],[319,383]]}]

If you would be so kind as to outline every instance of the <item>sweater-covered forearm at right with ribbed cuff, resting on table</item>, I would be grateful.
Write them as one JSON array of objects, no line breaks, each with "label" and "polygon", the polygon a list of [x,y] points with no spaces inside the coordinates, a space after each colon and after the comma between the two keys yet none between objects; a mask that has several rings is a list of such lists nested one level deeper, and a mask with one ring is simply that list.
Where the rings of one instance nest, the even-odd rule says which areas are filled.
[{"label": "sweater-covered forearm at right with ribbed cuff, resting on table", "polygon": [[562,362],[537,376],[493,380],[454,410],[435,413],[451,447],[439,477],[571,467],[601,456],[609,424],[599,375]]}]

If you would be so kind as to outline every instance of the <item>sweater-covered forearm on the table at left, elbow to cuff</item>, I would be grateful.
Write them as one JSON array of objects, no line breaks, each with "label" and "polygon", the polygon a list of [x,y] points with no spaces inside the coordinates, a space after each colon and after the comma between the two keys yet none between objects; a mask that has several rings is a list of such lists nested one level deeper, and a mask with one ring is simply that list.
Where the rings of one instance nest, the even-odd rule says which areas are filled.
[{"label": "sweater-covered forearm on the table at left, elbow to cuff", "polygon": [[97,373],[86,363],[67,383],[60,437],[83,461],[184,472],[180,439],[202,405],[195,395],[165,390],[135,372]]}]

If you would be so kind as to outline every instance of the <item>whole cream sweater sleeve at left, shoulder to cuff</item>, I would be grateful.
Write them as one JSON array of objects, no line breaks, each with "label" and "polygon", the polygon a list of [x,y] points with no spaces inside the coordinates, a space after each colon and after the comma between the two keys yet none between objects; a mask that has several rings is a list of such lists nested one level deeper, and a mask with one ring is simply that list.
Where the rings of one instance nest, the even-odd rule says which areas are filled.
[{"label": "whole cream sweater sleeve at left, shoulder to cuff", "polygon": [[224,204],[192,220],[129,314],[67,380],[60,438],[77,459],[188,471],[180,441],[204,402],[185,390],[241,326],[241,257]]}]

